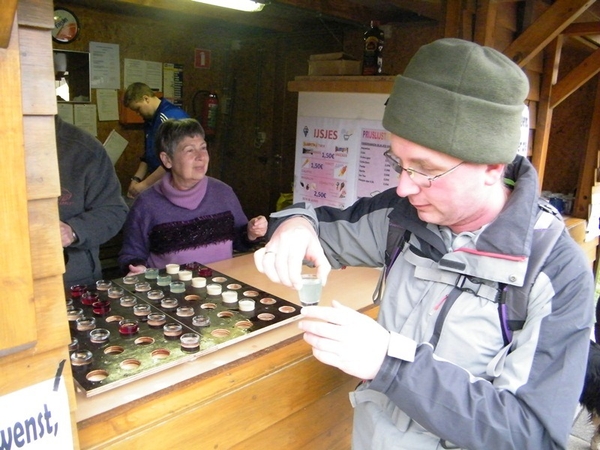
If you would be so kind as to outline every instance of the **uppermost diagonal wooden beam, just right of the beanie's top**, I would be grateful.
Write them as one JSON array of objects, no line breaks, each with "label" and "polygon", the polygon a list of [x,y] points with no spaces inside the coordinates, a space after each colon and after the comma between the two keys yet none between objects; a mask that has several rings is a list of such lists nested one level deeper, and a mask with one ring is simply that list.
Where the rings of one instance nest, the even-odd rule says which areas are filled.
[{"label": "uppermost diagonal wooden beam, just right of the beanie's top", "polygon": [[520,67],[526,66],[595,1],[557,0],[504,50],[504,54]]}]

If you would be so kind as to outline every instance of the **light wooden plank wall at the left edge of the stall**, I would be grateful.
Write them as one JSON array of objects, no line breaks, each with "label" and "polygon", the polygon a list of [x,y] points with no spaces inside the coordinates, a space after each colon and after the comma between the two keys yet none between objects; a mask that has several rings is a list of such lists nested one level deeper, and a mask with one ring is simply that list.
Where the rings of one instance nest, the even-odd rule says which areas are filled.
[{"label": "light wooden plank wall at the left edge of the stall", "polygon": [[0,50],[5,155],[0,227],[2,236],[10,236],[0,244],[5,271],[0,287],[9,294],[1,302],[0,320],[14,322],[0,324],[0,395],[54,378],[66,360],[63,374],[78,448],[58,226],[52,8],[51,0],[21,0],[9,45]]}]

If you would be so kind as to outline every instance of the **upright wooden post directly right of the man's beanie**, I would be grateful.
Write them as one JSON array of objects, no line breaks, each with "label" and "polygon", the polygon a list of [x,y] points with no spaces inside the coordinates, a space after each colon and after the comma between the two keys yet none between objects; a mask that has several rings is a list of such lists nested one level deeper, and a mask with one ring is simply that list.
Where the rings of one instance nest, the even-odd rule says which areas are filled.
[{"label": "upright wooden post directly right of the man's beanie", "polygon": [[556,83],[556,78],[558,76],[558,64],[560,62],[562,42],[563,37],[557,36],[557,38],[545,49],[546,57],[544,58],[544,71],[542,73],[542,84],[540,86],[540,101],[535,127],[535,139],[533,141],[531,155],[531,162],[538,172],[540,189],[542,189],[544,185],[544,170],[546,168],[548,141],[550,140],[550,128],[552,125],[550,97],[552,94],[552,86]]}]

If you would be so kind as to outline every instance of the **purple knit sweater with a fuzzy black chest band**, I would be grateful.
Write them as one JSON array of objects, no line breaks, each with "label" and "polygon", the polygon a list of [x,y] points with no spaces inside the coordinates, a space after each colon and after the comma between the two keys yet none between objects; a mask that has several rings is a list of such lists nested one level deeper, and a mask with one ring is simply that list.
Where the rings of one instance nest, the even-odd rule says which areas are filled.
[{"label": "purple knit sweater with a fuzzy black chest band", "polygon": [[248,219],[230,186],[204,177],[180,191],[167,173],[133,203],[123,228],[119,264],[164,268],[169,263],[203,264],[245,250]]}]

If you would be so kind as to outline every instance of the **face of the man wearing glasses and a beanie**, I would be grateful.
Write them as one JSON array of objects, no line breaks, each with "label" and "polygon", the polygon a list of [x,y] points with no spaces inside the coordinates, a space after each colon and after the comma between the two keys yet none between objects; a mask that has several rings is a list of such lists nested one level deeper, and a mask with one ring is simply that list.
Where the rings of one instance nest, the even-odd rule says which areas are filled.
[{"label": "face of the man wearing glasses and a beanie", "polygon": [[466,163],[396,135],[391,144],[398,163],[415,171],[402,171],[396,193],[408,199],[421,220],[457,233],[489,223],[490,196],[499,192],[490,188],[499,182],[502,165]]}]

